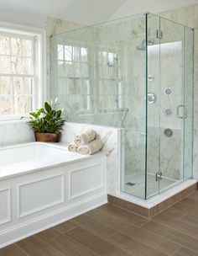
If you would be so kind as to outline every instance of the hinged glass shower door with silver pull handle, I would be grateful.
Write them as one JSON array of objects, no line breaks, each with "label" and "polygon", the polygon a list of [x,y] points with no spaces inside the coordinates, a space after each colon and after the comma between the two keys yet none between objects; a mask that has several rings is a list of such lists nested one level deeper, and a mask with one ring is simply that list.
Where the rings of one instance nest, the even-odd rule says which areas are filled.
[{"label": "hinged glass shower door with silver pull handle", "polygon": [[163,191],[184,176],[185,119],[185,26],[160,18],[161,136],[160,171]]}]

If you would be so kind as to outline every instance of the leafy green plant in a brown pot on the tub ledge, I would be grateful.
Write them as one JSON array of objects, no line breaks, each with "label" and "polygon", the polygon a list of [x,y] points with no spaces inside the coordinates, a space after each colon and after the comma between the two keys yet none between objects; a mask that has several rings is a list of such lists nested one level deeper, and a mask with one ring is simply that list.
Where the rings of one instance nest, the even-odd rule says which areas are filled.
[{"label": "leafy green plant in a brown pot on the tub ledge", "polygon": [[34,131],[35,141],[59,142],[65,124],[61,115],[62,111],[53,109],[48,102],[44,103],[44,108],[30,112],[29,126]]}]

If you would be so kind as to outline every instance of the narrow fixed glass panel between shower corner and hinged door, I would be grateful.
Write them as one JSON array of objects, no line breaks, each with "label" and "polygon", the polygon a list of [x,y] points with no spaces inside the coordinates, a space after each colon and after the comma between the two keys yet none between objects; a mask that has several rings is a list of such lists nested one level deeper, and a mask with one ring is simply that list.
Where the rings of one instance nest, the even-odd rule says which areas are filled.
[{"label": "narrow fixed glass panel between shower corner and hinged door", "polygon": [[147,14],[147,164],[145,198],[159,194],[159,183],[155,181],[160,171],[160,39],[159,17]]}]

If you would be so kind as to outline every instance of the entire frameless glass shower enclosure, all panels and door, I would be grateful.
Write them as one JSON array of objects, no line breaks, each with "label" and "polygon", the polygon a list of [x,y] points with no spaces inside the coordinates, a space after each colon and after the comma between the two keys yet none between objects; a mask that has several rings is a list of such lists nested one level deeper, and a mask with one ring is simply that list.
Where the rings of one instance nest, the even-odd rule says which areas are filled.
[{"label": "entire frameless glass shower enclosure, all panels and door", "polygon": [[53,35],[50,98],[67,120],[121,128],[121,191],[192,178],[193,29],[151,13]]}]

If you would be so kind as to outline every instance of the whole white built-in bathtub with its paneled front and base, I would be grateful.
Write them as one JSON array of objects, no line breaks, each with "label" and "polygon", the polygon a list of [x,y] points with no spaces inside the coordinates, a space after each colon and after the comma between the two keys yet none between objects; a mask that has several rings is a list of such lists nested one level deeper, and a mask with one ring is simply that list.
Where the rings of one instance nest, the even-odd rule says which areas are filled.
[{"label": "whole white built-in bathtub with its paneled front and base", "polygon": [[61,143],[0,147],[0,248],[107,203],[106,168]]}]

